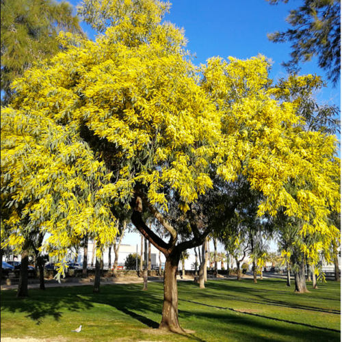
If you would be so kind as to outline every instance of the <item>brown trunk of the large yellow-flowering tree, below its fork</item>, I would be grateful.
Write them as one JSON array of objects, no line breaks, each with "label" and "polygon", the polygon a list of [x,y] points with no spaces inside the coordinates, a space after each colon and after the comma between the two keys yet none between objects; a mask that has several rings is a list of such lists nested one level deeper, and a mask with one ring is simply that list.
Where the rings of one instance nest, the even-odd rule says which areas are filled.
[{"label": "brown trunk of the large yellow-flowering tree, below its fork", "polygon": [[175,253],[166,257],[163,318],[161,319],[159,329],[183,333],[184,331],[179,325],[178,317],[177,271],[180,257],[180,254]]}]

